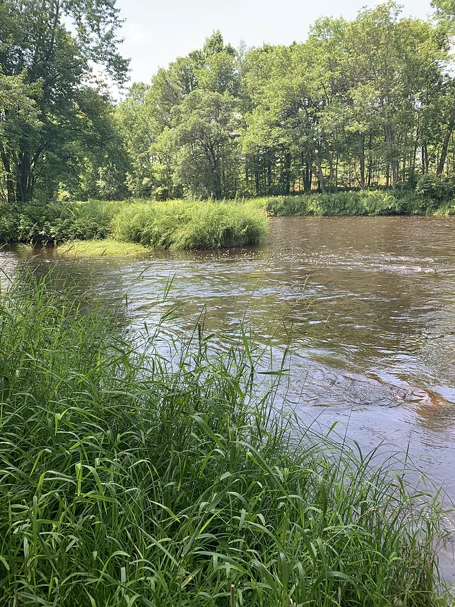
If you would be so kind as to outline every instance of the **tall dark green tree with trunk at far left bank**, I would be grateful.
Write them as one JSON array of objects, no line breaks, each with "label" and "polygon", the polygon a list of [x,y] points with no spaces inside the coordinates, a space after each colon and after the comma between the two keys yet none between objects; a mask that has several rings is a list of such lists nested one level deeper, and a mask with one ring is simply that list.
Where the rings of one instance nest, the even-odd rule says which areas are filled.
[{"label": "tall dark green tree with trunk at far left bank", "polygon": [[[76,34],[65,27],[68,21]],[[2,1],[0,68],[6,77],[22,74],[29,100],[23,101],[34,103],[38,117],[21,128],[20,137],[3,141],[10,202],[30,201],[47,165],[79,134],[81,117],[93,107],[84,106],[83,97],[90,81],[96,84],[94,64],[125,81],[128,62],[117,53],[115,37],[120,23],[114,0]]]}]

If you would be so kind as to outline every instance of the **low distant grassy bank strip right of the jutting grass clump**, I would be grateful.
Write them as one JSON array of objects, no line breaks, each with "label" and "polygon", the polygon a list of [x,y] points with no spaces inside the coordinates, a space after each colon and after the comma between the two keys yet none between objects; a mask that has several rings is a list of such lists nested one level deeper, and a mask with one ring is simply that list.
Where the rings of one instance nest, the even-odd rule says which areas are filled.
[{"label": "low distant grassy bank strip right of the jutting grass clump", "polygon": [[278,216],[455,215],[454,201],[383,190],[272,197],[267,209]]}]

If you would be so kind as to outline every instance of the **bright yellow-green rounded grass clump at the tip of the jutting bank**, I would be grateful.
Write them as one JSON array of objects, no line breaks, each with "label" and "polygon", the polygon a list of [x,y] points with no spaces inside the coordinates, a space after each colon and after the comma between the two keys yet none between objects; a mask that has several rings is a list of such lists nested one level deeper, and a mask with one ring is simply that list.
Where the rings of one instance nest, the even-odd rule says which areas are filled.
[{"label": "bright yellow-green rounded grass clump at the tip of the jutting bank", "polygon": [[136,202],[113,221],[114,236],[153,248],[215,249],[257,244],[267,216],[254,201]]}]

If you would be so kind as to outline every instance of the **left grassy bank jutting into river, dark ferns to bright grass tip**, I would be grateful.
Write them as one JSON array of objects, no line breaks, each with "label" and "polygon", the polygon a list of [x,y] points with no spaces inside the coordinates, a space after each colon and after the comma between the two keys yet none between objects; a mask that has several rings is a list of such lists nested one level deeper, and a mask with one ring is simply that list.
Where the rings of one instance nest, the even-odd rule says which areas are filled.
[{"label": "left grassy bank jutting into river, dark ferns to bright grass tip", "polygon": [[267,230],[265,210],[253,201],[93,200],[0,209],[0,244],[108,238],[152,248],[224,248],[259,243]]}]

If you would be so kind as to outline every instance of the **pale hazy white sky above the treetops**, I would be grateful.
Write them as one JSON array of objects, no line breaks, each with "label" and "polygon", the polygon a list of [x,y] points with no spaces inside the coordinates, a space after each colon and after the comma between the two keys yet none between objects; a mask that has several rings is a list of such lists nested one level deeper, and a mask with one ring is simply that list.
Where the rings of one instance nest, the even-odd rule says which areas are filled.
[{"label": "pale hazy white sky above the treetops", "polygon": [[[132,81],[149,82],[158,68],[201,48],[214,30],[238,47],[305,40],[319,17],[354,19],[374,0],[117,0],[125,23],[123,57],[130,57]],[[403,14],[425,19],[430,0],[401,0]]]}]

